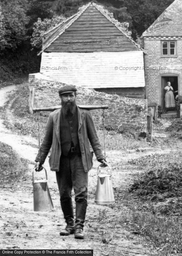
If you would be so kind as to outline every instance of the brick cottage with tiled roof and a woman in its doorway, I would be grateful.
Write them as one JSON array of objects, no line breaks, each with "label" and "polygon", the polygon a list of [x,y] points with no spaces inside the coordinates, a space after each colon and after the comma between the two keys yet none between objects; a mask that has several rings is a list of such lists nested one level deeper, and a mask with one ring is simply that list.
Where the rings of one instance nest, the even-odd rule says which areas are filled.
[{"label": "brick cottage with tiled roof and a woman in its doorway", "polygon": [[171,82],[174,97],[182,95],[182,0],[175,0],[142,34],[145,55],[146,99],[165,108],[165,89]]}]

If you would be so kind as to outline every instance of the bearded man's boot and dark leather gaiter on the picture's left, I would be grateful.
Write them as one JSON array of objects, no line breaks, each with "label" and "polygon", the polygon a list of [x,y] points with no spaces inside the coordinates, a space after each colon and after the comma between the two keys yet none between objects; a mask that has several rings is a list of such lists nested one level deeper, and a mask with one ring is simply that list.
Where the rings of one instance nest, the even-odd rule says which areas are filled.
[{"label": "bearded man's boot and dark leather gaiter on the picture's left", "polygon": [[69,236],[75,231],[75,222],[74,222],[74,213],[73,213],[73,204],[71,200],[65,200],[61,202],[61,208],[64,214],[64,219],[67,223],[65,229],[60,232],[60,236]]}]

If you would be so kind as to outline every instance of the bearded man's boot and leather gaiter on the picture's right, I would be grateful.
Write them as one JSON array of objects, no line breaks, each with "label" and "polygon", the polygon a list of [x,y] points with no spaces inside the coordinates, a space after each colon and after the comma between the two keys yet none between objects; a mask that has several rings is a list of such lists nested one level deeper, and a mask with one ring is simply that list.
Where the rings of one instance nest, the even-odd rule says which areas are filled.
[{"label": "bearded man's boot and leather gaiter on the picture's right", "polygon": [[87,202],[76,202],[75,238],[84,239],[83,227],[87,211]]}]

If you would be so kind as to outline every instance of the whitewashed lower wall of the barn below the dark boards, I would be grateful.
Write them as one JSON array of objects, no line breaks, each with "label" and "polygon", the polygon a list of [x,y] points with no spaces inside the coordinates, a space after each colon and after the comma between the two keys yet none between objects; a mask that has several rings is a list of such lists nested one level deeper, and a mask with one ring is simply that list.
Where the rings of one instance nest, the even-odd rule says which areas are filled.
[{"label": "whitewashed lower wall of the barn below the dark boards", "polygon": [[144,87],[143,67],[143,52],[139,50],[42,53],[40,73],[48,80],[88,88]]}]

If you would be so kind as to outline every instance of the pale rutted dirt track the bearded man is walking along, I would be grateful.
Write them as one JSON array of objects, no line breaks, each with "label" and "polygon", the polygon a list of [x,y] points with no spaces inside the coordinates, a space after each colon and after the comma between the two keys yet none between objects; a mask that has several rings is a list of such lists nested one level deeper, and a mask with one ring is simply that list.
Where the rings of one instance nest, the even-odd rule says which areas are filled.
[{"label": "pale rutted dirt track the bearded man is walking along", "polygon": [[[8,86],[0,89],[0,106],[5,103],[5,95],[8,91],[15,89],[15,86]],[[134,236],[129,231],[120,227],[117,223],[98,224],[87,223],[84,228],[85,239],[75,240],[74,235],[60,237],[59,232],[65,226],[63,214],[60,209],[59,191],[56,184],[55,173],[51,172],[48,166],[48,160],[44,166],[48,171],[48,184],[51,189],[51,197],[54,209],[47,212],[33,211],[33,191],[32,191],[32,170],[33,161],[37,154],[37,148],[29,146],[29,143],[38,144],[36,139],[30,136],[20,136],[12,134],[11,131],[4,128],[3,120],[0,119],[0,141],[9,144],[23,158],[29,160],[29,170],[27,181],[20,181],[16,186],[1,188],[0,199],[0,249],[94,249],[95,256],[116,256],[116,255],[153,255],[152,249],[142,245],[143,238]],[[122,151],[110,151],[108,162],[113,165],[118,161],[123,161],[127,165],[127,159],[137,158],[149,154],[149,151],[136,154],[136,151],[122,153]],[[151,151],[150,151],[151,154]],[[94,168],[89,172],[89,191],[87,220],[103,218],[103,220],[113,219],[116,212],[112,207],[96,205],[94,203],[94,191],[96,189],[96,167],[98,162],[94,161]],[[136,170],[113,171],[114,187],[127,185],[128,176]],[[36,175],[44,176],[43,172]],[[122,179],[118,177],[121,175]],[[126,177],[125,177],[126,176]],[[130,179],[130,178],[129,178]],[[119,181],[120,180],[120,181]],[[121,184],[122,182],[122,184]],[[25,189],[27,191],[25,191]],[[126,207],[125,207],[126,208]],[[123,207],[123,212],[126,211]],[[123,214],[122,212],[122,214]],[[117,213],[118,214],[118,213]],[[106,244],[103,238],[111,238]]]}]

